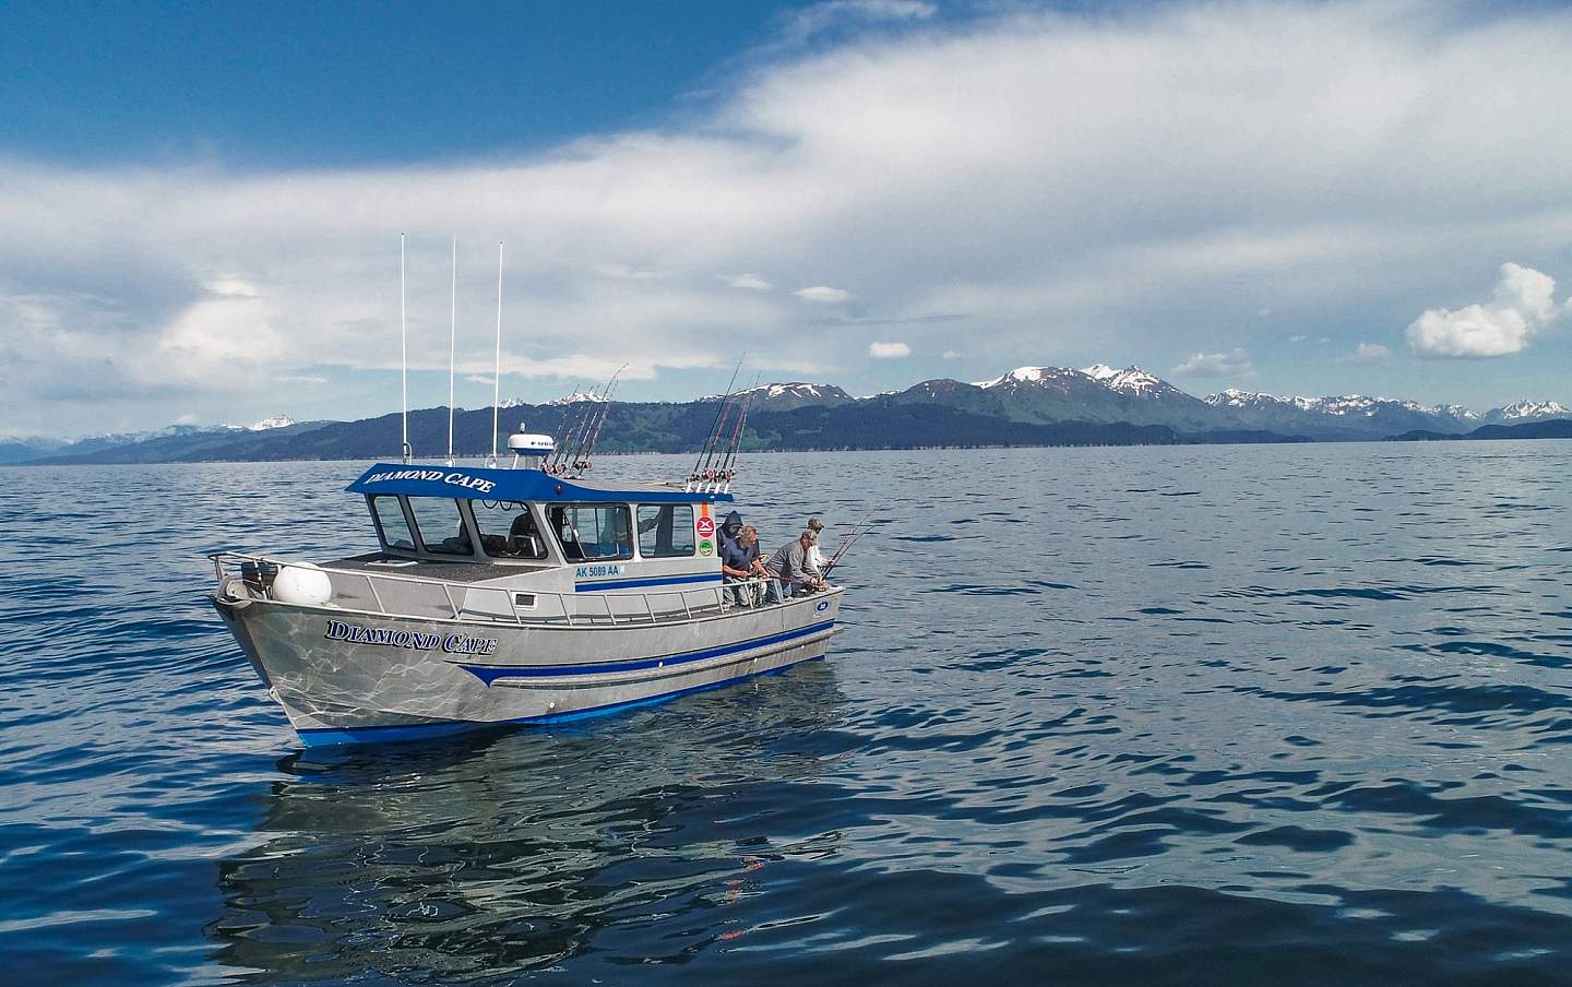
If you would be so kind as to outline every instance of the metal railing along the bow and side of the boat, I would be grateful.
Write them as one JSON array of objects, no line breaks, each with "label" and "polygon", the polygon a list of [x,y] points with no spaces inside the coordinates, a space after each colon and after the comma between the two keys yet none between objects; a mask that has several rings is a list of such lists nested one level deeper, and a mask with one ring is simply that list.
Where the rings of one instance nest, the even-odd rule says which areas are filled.
[{"label": "metal railing along the bow and side of the boat", "polygon": [[[237,552],[208,556],[220,591],[230,580],[244,585],[253,599],[277,599],[264,578],[245,578],[250,564],[259,574],[264,566],[283,569],[299,566],[283,560]],[[641,593],[556,593],[523,586],[467,585],[421,575],[368,572],[318,566],[333,585],[329,605],[346,611],[384,616],[495,622],[516,626],[626,627],[638,624],[671,624],[695,618],[718,616],[740,607],[764,607],[767,578],[736,580],[684,589],[648,589]]]}]

